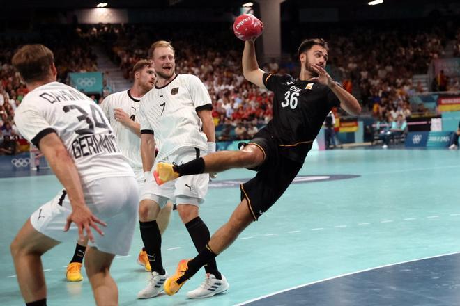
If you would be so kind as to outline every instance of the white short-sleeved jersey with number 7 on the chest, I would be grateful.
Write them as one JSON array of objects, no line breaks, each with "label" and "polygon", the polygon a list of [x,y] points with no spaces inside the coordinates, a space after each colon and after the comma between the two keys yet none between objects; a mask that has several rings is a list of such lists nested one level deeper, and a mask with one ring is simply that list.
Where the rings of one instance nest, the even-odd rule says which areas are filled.
[{"label": "white short-sleeved jersey with number 7 on the chest", "polygon": [[155,87],[141,98],[141,133],[153,133],[161,143],[159,161],[181,147],[207,151],[207,138],[201,131],[197,111],[212,108],[208,90],[200,79],[178,74],[167,86]]}]

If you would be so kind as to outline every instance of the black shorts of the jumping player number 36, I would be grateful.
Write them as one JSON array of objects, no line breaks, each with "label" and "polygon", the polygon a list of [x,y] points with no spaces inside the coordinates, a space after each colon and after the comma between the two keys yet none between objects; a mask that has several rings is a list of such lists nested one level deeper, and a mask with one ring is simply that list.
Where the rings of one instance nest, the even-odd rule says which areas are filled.
[{"label": "black shorts of the jumping player number 36", "polygon": [[265,161],[251,169],[257,171],[256,177],[240,185],[241,200],[247,200],[252,218],[257,220],[286,191],[302,168],[302,163],[281,156],[273,136],[263,129],[254,136],[250,144],[263,150]]}]

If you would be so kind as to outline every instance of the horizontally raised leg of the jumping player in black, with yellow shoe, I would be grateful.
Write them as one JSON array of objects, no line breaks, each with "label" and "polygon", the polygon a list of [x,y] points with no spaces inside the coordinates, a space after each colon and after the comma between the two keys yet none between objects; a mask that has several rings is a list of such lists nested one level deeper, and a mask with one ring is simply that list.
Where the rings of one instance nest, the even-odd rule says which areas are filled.
[{"label": "horizontally raised leg of the jumping player in black, with yellow shoe", "polygon": [[178,166],[158,163],[153,174],[157,184],[164,184],[183,175],[215,173],[232,168],[256,168],[263,163],[265,156],[260,145],[249,143],[240,151],[218,151]]}]

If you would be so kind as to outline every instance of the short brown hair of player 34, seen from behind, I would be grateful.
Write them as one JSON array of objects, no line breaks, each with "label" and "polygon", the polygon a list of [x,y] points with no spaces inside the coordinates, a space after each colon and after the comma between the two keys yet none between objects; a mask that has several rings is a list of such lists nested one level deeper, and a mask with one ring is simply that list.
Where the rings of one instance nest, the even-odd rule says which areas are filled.
[{"label": "short brown hair of player 34, seen from behind", "polygon": [[16,51],[11,63],[22,79],[31,83],[47,77],[49,67],[54,63],[54,54],[44,45],[24,45]]}]

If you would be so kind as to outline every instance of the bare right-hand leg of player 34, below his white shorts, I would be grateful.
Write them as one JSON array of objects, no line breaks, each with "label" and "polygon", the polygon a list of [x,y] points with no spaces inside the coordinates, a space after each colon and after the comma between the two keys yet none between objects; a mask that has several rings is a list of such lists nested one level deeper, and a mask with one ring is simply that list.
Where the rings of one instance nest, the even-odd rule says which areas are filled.
[{"label": "bare right-hand leg of player 34, below his white shorts", "polygon": [[109,272],[114,257],[94,247],[86,251],[84,266],[96,305],[118,305],[118,287]]}]

